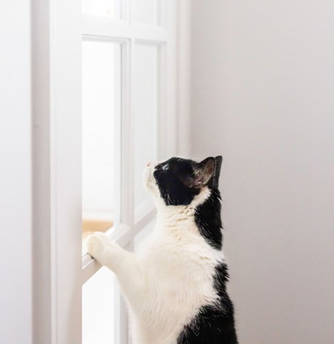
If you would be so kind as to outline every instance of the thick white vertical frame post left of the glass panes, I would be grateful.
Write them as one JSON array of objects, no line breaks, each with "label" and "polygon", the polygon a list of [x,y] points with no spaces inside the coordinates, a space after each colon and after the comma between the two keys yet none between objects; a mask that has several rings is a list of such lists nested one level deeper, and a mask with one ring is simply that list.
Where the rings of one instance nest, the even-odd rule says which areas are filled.
[{"label": "thick white vertical frame post left of the glass panes", "polygon": [[33,342],[38,344],[81,343],[80,9],[79,0],[32,1]]}]

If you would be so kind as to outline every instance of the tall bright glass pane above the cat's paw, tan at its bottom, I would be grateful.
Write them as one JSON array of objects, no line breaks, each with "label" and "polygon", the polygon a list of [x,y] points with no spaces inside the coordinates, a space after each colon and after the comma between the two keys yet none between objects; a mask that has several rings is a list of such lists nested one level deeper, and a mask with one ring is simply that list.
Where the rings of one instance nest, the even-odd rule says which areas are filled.
[{"label": "tall bright glass pane above the cat's paw, tan at its bottom", "polygon": [[[116,221],[115,160],[120,116],[120,45],[82,42],[82,230]],[[120,184],[120,183],[118,183]]]}]

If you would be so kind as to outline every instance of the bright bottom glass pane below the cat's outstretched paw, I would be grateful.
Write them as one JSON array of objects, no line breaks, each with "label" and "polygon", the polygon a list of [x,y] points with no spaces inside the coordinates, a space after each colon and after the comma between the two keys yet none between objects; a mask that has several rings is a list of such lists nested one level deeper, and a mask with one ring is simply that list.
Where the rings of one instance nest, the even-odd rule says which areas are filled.
[{"label": "bright bottom glass pane below the cat's outstretched paw", "polygon": [[82,286],[82,344],[115,343],[115,277],[102,267]]}]

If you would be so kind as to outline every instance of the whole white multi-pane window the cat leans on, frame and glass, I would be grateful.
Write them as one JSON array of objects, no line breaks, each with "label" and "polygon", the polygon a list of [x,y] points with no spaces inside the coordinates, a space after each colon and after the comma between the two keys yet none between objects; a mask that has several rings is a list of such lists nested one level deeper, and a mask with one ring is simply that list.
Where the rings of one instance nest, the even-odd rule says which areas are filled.
[{"label": "whole white multi-pane window the cat leans on, frame and glass", "polygon": [[35,8],[34,206],[43,216],[34,280],[43,288],[34,295],[34,343],[96,344],[98,334],[99,343],[129,343],[118,283],[82,243],[102,230],[137,250],[153,228],[142,171],[177,154],[177,5],[48,0]]}]

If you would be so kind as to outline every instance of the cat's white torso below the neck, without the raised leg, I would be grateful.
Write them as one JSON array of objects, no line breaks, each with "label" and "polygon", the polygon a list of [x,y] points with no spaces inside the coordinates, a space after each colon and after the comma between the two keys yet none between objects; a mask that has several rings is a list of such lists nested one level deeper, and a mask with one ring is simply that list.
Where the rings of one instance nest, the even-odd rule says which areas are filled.
[{"label": "cat's white torso below the neck, without the raised leg", "polygon": [[178,215],[169,228],[158,220],[136,254],[147,293],[135,310],[135,344],[175,344],[199,310],[219,298],[213,279],[223,252],[199,235],[193,217]]}]

